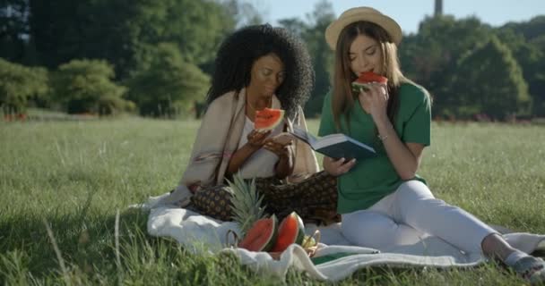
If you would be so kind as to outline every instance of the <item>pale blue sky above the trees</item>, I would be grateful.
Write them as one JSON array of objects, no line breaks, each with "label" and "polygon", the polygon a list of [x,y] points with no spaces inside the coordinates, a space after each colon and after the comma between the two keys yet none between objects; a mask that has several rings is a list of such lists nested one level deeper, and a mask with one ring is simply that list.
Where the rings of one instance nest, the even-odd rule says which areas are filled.
[{"label": "pale blue sky above the trees", "polygon": [[[306,20],[319,0],[247,0],[264,15],[264,20],[276,25],[278,20],[298,17]],[[355,6],[371,6],[394,18],[403,33],[418,31],[419,22],[434,12],[434,0],[328,0],[336,16]],[[417,5],[418,4],[418,5]],[[443,13],[456,19],[475,15],[480,21],[501,26],[508,21],[529,21],[545,15],[545,0],[444,0]]]}]

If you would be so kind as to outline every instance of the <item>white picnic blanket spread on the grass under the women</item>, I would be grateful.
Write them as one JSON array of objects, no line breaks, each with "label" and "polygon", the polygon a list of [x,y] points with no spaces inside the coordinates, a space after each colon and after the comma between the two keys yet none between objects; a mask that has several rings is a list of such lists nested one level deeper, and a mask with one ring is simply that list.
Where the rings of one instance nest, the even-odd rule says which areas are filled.
[{"label": "white picnic blanket spread on the grass under the women", "polygon": [[[153,198],[151,201],[156,199]],[[316,229],[321,231],[321,240],[315,257],[330,256],[335,253],[354,253],[355,255],[315,265],[307,257],[305,250],[294,244],[282,253],[280,260],[274,260],[265,252],[229,247],[233,241],[228,241],[230,239],[227,238],[227,232],[229,230],[238,232],[236,223],[217,221],[175,206],[151,208],[148,218],[148,232],[153,236],[177,240],[185,248],[195,252],[233,253],[240,257],[243,265],[249,266],[255,272],[276,275],[281,279],[285,278],[290,267],[304,271],[318,280],[335,282],[348,277],[360,268],[372,265],[443,268],[471,267],[486,261],[480,253],[463,253],[437,237],[422,237],[422,240],[416,244],[394,245],[378,251],[372,248],[350,246],[350,243],[342,236],[339,223],[321,228],[317,228],[314,224],[306,226],[306,232],[309,235]],[[504,236],[509,244],[526,253],[545,249],[545,235],[508,233]]]}]

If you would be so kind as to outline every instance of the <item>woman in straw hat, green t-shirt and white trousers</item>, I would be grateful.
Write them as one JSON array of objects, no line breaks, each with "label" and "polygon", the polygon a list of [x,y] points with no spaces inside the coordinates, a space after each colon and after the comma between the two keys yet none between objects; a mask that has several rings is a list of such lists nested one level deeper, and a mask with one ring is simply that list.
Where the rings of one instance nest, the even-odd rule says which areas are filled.
[{"label": "woman in straw hat, green t-shirt and white trousers", "polygon": [[[333,21],[325,38],[335,63],[319,135],[346,133],[378,150],[378,156],[360,162],[324,157],[324,170],[338,178],[343,235],[353,244],[381,249],[416,242],[424,232],[497,257],[530,282],[545,281],[541,258],[512,248],[487,224],[435,198],[417,174],[422,150],[430,144],[431,100],[400,70],[400,26],[373,8],[357,7]],[[350,83],[364,71],[386,77],[387,84],[353,94]]]}]

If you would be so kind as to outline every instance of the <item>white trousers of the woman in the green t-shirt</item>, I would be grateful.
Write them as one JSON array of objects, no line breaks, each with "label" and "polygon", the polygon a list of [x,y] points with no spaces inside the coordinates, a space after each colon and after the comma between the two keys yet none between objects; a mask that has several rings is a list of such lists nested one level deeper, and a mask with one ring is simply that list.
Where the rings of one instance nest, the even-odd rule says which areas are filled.
[{"label": "white trousers of the woman in the green t-shirt", "polygon": [[424,233],[465,252],[481,253],[482,240],[497,231],[435,198],[421,181],[406,181],[368,209],[342,214],[342,234],[361,247],[380,250],[410,245],[419,242]]}]

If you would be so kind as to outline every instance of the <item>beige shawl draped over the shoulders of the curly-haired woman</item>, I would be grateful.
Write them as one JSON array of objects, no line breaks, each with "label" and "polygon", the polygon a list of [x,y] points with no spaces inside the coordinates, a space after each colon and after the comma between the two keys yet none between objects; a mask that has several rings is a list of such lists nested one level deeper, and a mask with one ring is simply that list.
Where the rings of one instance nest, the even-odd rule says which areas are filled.
[{"label": "beige shawl draped over the shoulders of the curly-haired woman", "polygon": [[[238,149],[238,141],[246,119],[246,90],[231,91],[216,98],[203,116],[197,131],[193,152],[177,189],[168,197],[162,198],[159,205],[177,204],[187,206],[191,191],[188,186],[210,187],[223,183],[230,156]],[[272,108],[281,108],[277,97],[272,97]],[[286,119],[288,130],[293,125],[307,130],[307,122],[301,108],[294,122]],[[306,143],[294,141],[295,161],[293,172],[287,179],[296,182],[307,174],[319,171],[314,151]]]}]

